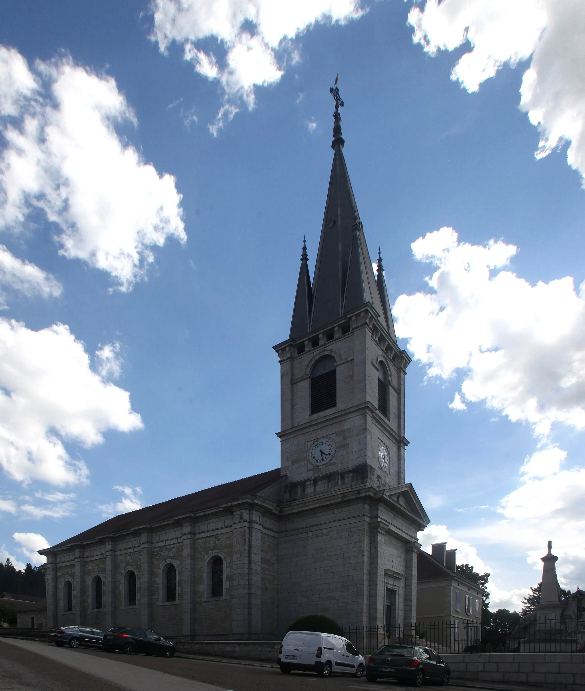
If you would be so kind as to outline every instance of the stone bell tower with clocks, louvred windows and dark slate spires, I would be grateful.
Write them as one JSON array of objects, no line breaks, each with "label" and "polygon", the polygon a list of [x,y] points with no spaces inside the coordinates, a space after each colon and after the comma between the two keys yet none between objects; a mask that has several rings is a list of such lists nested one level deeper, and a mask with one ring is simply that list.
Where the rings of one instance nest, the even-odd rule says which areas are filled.
[{"label": "stone bell tower with clocks, louvred windows and dark slate spires", "polygon": [[303,241],[289,338],[274,346],[280,466],[294,493],[317,489],[315,480],[332,473],[377,489],[405,481],[410,357],[396,343],[379,252],[374,276],[343,156],[343,101],[337,86],[331,93],[334,155],[313,281]]}]

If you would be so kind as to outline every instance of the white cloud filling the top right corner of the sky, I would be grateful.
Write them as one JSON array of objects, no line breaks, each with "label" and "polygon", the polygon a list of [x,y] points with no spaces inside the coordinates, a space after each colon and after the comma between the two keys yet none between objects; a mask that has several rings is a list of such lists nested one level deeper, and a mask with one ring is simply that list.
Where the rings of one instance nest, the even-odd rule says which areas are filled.
[{"label": "white cloud filling the top right corner of the sky", "polygon": [[[568,164],[585,176],[585,3],[582,0],[428,0],[413,7],[414,41],[434,55],[469,42],[451,78],[473,92],[504,64],[532,56],[520,108],[541,134],[537,157],[570,142]],[[585,182],[584,182],[585,184]]]}]

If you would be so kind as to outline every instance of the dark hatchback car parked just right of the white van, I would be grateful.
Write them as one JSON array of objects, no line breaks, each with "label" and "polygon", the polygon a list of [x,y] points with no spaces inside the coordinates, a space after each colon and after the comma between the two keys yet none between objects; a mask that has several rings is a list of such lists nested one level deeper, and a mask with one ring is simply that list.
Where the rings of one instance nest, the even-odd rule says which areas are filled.
[{"label": "dark hatchback car parked just right of the white van", "polygon": [[441,656],[419,645],[384,645],[365,665],[367,681],[397,679],[411,686],[425,682],[446,686],[450,675],[449,665]]}]

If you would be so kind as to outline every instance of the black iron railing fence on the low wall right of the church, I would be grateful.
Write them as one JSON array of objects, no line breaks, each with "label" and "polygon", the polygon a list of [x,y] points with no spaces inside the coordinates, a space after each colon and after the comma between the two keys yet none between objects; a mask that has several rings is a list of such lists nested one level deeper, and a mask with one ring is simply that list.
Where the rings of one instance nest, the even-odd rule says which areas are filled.
[{"label": "black iron railing fence on the low wall right of the church", "polygon": [[583,652],[585,620],[582,617],[523,618],[513,630],[461,619],[379,627],[348,627],[343,635],[363,655],[383,645],[422,645],[439,654],[462,652]]}]

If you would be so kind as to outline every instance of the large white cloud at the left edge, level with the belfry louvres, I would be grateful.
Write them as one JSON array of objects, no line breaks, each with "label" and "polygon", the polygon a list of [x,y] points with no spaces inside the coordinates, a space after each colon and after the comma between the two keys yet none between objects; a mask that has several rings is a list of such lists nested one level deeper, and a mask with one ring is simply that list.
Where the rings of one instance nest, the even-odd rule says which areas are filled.
[{"label": "large white cloud at the left edge, level with the belfry louvres", "polygon": [[128,392],[90,369],[66,325],[32,331],[0,319],[0,465],[7,475],[25,484],[86,482],[86,465],[64,442],[88,448],[106,430],[139,428]]}]

